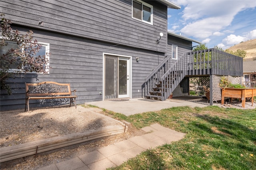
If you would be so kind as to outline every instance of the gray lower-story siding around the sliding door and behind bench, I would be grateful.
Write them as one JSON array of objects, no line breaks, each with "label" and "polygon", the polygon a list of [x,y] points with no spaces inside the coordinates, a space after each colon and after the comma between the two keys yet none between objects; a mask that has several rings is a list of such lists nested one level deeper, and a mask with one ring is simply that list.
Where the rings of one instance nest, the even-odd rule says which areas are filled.
[{"label": "gray lower-story siding around the sliding door and behind bench", "polygon": [[[31,29],[12,26],[14,29],[18,28],[21,33]],[[103,52],[132,56],[132,98],[141,98],[146,76],[164,59],[164,53],[122,45],[114,46],[116,44],[40,29],[32,31],[34,38],[39,42],[50,43],[50,74],[22,74],[20,78],[10,79],[13,94],[9,96],[1,90],[1,110],[24,108],[25,82],[70,83],[71,90],[77,90],[77,104],[102,100],[99,92],[103,90]],[[139,62],[136,57],[140,57]],[[42,100],[31,100],[31,103],[31,107],[50,104]],[[58,100],[58,104],[62,103]]]}]

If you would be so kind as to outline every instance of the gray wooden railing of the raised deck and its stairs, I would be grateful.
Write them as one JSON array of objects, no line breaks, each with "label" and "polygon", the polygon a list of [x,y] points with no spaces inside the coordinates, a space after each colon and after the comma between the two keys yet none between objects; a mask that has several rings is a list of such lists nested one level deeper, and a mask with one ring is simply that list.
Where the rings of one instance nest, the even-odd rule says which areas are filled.
[{"label": "gray wooden railing of the raised deck and its stairs", "polygon": [[242,76],[242,58],[217,49],[185,53],[170,65],[171,56],[160,63],[145,79],[145,95],[162,83],[162,100],[166,100],[185,76]]}]

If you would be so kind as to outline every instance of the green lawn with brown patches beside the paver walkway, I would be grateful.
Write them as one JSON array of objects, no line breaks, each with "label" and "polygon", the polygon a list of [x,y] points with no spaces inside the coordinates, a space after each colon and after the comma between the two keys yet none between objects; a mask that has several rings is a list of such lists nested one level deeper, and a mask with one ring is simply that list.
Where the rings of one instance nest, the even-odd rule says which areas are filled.
[{"label": "green lawn with brown patches beside the paver walkway", "polygon": [[172,107],[129,117],[111,114],[138,129],[159,123],[186,137],[146,150],[109,170],[256,169],[256,109]]}]

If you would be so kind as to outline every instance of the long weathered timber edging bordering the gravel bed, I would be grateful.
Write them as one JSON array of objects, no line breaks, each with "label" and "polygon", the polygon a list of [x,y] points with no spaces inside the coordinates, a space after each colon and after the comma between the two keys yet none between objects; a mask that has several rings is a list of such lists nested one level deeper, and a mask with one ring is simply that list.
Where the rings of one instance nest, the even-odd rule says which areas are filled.
[{"label": "long weathered timber edging bordering the gravel bed", "polygon": [[127,129],[128,127],[123,123],[123,125],[107,126],[88,130],[86,132],[72,133],[29,143],[23,143],[12,147],[3,147],[0,148],[0,162],[22,158],[24,156],[30,156],[86,141],[92,141],[94,139],[108,137],[119,133],[125,133]]}]

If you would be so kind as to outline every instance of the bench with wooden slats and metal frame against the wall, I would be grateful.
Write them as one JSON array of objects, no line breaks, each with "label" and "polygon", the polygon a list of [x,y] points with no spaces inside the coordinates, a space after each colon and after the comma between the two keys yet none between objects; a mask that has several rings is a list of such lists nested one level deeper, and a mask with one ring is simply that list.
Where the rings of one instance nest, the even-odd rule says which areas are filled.
[{"label": "bench with wooden slats and metal frame against the wall", "polygon": [[[70,90],[70,84],[62,84],[57,82],[40,82],[40,83],[25,83],[26,85],[26,106],[29,112],[29,100],[36,99],[58,99],[70,98],[70,105],[74,102],[76,106],[76,90]],[[72,92],[74,95],[72,96]]]}]

